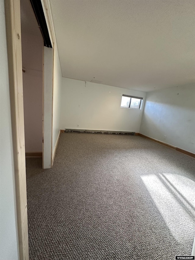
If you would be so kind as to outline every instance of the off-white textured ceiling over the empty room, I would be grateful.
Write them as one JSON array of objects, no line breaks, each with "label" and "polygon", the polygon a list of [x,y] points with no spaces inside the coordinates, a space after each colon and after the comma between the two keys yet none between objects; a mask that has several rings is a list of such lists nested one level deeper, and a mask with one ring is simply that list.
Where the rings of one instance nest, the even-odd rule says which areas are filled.
[{"label": "off-white textured ceiling over the empty room", "polygon": [[63,77],[140,91],[195,82],[195,1],[50,2]]}]

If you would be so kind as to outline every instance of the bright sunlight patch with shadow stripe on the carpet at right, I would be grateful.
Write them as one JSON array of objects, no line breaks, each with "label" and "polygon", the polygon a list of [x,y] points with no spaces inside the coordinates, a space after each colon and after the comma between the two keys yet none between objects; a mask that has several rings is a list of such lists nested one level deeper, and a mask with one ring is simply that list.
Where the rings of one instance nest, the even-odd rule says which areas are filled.
[{"label": "bright sunlight patch with shadow stripe on the carpet at right", "polygon": [[167,174],[144,175],[141,179],[172,235],[179,243],[187,242],[194,235],[195,183],[183,176]]}]

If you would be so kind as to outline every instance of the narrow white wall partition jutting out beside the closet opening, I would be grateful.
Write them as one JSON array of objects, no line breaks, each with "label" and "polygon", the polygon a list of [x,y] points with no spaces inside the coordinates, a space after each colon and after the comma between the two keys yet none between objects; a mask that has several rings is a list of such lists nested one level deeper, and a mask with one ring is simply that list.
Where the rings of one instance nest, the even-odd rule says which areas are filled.
[{"label": "narrow white wall partition jutting out beside the closet opening", "polygon": [[44,47],[44,169],[49,169],[52,167],[54,150],[57,145],[60,131],[60,96],[62,73],[59,62],[58,49],[55,44],[53,47],[54,48]]}]

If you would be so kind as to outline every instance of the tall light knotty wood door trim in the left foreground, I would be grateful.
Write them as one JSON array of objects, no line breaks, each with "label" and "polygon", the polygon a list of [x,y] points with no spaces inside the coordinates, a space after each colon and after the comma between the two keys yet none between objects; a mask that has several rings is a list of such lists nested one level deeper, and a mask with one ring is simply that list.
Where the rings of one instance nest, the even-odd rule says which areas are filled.
[{"label": "tall light knotty wood door trim in the left foreground", "polygon": [[28,260],[20,1],[5,1],[19,259]]}]

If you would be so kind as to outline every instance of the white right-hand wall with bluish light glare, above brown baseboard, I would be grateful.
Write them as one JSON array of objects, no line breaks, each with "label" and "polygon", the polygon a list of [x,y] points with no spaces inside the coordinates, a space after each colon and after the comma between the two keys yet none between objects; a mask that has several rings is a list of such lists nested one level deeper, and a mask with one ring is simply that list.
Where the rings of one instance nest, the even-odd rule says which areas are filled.
[{"label": "white right-hand wall with bluish light glare, above brown baseboard", "polygon": [[140,133],[195,153],[195,85],[148,92]]}]

